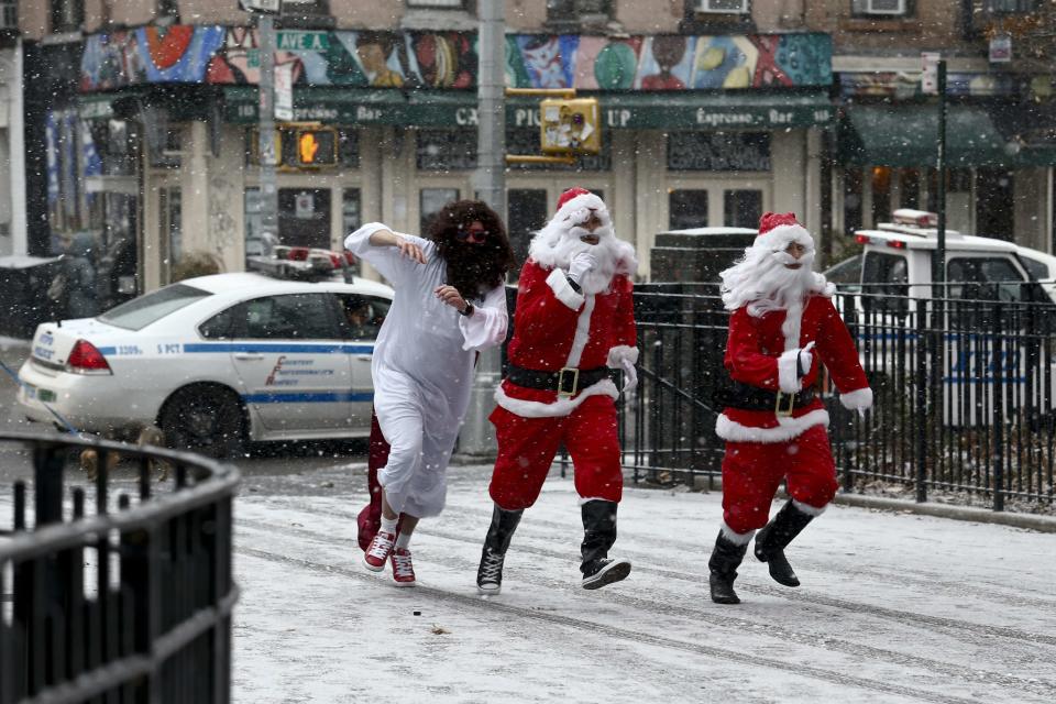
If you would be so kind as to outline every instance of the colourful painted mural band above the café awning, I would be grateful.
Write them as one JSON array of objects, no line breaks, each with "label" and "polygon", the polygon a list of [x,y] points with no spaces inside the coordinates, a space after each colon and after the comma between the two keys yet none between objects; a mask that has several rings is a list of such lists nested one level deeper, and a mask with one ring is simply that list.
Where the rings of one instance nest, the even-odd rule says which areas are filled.
[{"label": "colourful painted mural band above the caf\u00e9 awning", "polygon": [[[476,35],[462,32],[280,31],[278,65],[295,85],[472,89]],[[694,90],[828,86],[826,34],[654,35],[617,40],[575,34],[506,38],[506,82],[516,88]],[[176,25],[89,37],[81,89],[142,82],[253,85],[256,33],[249,28]]]}]

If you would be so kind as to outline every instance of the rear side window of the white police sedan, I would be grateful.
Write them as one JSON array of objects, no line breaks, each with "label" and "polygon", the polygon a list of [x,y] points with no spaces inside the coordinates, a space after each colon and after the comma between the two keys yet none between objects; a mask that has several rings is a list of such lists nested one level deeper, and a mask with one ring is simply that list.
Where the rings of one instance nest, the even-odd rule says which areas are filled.
[{"label": "rear side window of the white police sedan", "polygon": [[266,296],[243,304],[244,337],[251,340],[334,340],[327,294]]}]

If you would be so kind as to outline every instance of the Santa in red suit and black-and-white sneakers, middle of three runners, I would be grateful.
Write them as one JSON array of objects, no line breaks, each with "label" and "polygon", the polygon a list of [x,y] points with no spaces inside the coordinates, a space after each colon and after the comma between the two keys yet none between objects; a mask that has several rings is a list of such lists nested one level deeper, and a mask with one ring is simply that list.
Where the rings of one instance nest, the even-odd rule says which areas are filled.
[{"label": "Santa in red suit and black-and-white sneakers, middle of three runners", "polygon": [[563,441],[572,457],[583,519],[583,587],[625,579],[630,562],[613,560],[616,506],[623,493],[609,370],[624,391],[638,377],[632,284],[635,250],[616,239],[605,204],[583,188],[561,195],[536,233],[520,272],[506,377],[491,416],[498,459],[490,493],[492,524],[476,574],[482,594],[502,588],[503,563],[525,508],[531,506]]}]

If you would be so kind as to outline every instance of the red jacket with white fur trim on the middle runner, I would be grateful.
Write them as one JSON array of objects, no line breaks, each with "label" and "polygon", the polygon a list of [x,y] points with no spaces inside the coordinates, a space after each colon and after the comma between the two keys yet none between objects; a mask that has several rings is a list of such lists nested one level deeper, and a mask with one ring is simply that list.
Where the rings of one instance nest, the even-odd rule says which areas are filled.
[{"label": "red jacket with white fur trim on the middle runner", "polygon": [[[546,270],[535,260],[525,262],[517,289],[514,337],[508,355],[512,364],[528,370],[557,372],[563,367],[619,369],[623,361],[638,361],[634,285],[627,276],[613,277],[608,290],[581,294],[560,268]],[[495,392],[503,408],[526,418],[568,416],[590,396],[619,392],[608,378],[571,398],[557,392],[526,388],[509,380]]]}]

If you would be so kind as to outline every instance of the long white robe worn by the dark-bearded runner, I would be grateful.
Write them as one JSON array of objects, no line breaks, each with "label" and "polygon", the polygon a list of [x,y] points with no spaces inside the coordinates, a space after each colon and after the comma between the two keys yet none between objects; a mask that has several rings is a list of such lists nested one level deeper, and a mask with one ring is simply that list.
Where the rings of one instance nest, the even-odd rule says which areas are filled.
[{"label": "long white robe worn by the dark-bearded runner", "polygon": [[436,296],[447,262],[433,242],[400,237],[421,248],[426,264],[371,235],[389,228],[371,222],[348,237],[345,249],[370,262],[396,296],[374,346],[374,410],[391,446],[377,480],[393,510],[437,516],[447,496],[447,469],[470,403],[476,351],[506,339],[506,292],[497,286],[463,316]]}]

